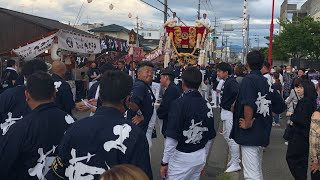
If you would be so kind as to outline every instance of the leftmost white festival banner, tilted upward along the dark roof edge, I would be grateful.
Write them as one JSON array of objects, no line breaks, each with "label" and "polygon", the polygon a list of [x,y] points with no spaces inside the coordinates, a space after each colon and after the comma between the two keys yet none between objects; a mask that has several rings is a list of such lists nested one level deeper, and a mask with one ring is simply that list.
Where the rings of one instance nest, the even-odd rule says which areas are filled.
[{"label": "leftmost white festival banner, tilted upward along the dark roof edge", "polygon": [[55,35],[56,34],[52,34],[38,41],[27,44],[23,47],[13,49],[13,52],[16,53],[17,56],[19,56],[22,60],[32,60],[33,58],[51,48]]}]

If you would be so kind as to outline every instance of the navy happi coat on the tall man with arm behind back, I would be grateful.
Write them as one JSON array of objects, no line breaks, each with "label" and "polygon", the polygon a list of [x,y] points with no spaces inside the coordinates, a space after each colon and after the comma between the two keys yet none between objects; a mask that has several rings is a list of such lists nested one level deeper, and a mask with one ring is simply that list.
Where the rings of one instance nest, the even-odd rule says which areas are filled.
[{"label": "navy happi coat on the tall man with arm behind back", "polygon": [[[239,127],[239,119],[244,118],[244,106],[253,109],[253,125],[249,129]],[[270,141],[272,112],[281,114],[285,104],[260,71],[251,71],[240,85],[239,95],[233,113],[233,128],[230,138],[245,146],[266,147]]]}]

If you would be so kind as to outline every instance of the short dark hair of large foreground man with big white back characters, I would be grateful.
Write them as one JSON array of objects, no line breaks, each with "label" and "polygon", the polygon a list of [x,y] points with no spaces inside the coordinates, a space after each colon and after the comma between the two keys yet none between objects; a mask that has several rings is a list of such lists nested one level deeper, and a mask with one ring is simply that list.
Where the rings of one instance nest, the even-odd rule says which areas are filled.
[{"label": "short dark hair of large foreground man with big white back characters", "polygon": [[100,80],[102,102],[120,103],[126,98],[133,86],[132,77],[122,71],[106,71]]}]

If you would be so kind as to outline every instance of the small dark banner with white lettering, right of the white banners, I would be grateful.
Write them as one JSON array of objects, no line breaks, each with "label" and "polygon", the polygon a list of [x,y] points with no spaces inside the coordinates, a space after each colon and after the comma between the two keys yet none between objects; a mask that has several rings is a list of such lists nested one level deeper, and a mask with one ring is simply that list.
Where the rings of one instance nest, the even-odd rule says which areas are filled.
[{"label": "small dark banner with white lettering, right of the white banners", "polygon": [[101,48],[106,51],[116,51],[121,53],[128,53],[128,42],[124,39],[117,39],[110,36],[105,36],[101,40]]}]

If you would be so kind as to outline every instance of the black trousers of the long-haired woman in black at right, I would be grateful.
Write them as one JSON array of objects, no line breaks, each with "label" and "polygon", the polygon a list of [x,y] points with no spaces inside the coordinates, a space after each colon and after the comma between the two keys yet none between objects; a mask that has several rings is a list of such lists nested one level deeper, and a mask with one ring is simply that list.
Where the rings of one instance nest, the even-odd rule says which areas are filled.
[{"label": "black trousers of the long-haired woman in black at right", "polygon": [[309,137],[294,133],[289,141],[286,160],[295,180],[306,180],[308,173]]}]

